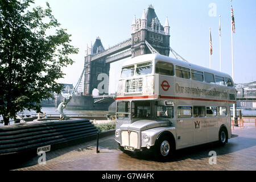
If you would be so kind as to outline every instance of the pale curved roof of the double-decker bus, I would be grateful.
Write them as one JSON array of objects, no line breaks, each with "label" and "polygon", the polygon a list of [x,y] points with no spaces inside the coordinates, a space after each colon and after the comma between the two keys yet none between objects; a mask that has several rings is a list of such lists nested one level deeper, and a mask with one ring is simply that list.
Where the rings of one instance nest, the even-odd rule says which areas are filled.
[{"label": "pale curved roof of the double-decker bus", "polygon": [[214,69],[201,67],[201,66],[196,65],[196,64],[187,63],[185,61],[177,60],[177,59],[174,59],[172,57],[159,55],[159,54],[156,54],[156,53],[151,53],[151,54],[146,54],[146,55],[133,57],[133,58],[127,60],[122,65],[122,67],[126,67],[126,66],[129,66],[129,65],[134,65],[134,64],[138,64],[138,63],[143,63],[143,62],[150,61],[150,60],[159,60],[159,61],[164,61],[164,62],[168,62],[168,63],[173,63],[175,65],[180,65],[181,67],[183,66],[183,67],[187,67],[187,68],[190,68],[190,69],[196,69],[197,71],[209,72],[209,73],[213,73],[214,75],[217,75],[217,76],[228,77],[228,78],[232,79],[232,77],[230,75],[228,75],[227,73],[215,71]]}]

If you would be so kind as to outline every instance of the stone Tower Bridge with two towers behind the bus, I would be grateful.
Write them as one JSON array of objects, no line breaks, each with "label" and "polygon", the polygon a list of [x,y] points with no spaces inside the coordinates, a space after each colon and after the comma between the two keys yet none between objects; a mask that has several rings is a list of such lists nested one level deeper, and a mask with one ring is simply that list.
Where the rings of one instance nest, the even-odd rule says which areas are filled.
[{"label": "stone Tower Bridge with two towers behind the bus", "polygon": [[[91,43],[86,48],[84,96],[92,96],[95,88],[100,90],[100,95],[108,94],[110,63],[126,57],[151,53],[151,48],[148,47],[148,44],[162,55],[169,56],[170,50],[172,50],[170,48],[168,18],[166,18],[166,22],[162,26],[152,5],[148,6],[147,11],[143,11],[141,19],[137,19],[136,16],[133,17],[130,39],[105,49],[102,46],[101,39],[97,38],[94,44]],[[102,81],[105,82],[104,85],[100,84]],[[96,102],[98,102],[98,99]]]}]

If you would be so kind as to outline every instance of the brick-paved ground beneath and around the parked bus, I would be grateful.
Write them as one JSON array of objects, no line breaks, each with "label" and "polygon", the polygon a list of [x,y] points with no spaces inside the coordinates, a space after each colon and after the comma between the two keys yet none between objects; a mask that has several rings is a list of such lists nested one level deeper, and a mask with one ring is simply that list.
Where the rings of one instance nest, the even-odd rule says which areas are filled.
[{"label": "brick-paved ground beneath and around the parked bus", "polygon": [[[38,164],[39,156],[26,159],[13,169],[36,170],[86,170],[86,171],[169,171],[169,170],[256,170],[256,127],[246,123],[244,128],[235,127],[226,146],[216,143],[179,150],[175,159],[166,163],[156,162],[151,153],[142,156],[125,154],[118,150],[114,136],[100,139],[100,153],[96,153],[96,141],[76,143],[46,153],[45,165]],[[209,164],[209,152],[216,151],[217,164]]]}]

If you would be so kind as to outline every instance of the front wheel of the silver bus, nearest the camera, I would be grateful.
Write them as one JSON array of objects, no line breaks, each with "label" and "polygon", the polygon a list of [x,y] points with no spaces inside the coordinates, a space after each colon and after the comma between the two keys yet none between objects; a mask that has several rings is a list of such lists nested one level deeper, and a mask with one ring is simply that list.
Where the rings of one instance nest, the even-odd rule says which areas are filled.
[{"label": "front wheel of the silver bus, nearest the camera", "polygon": [[156,159],[167,160],[174,155],[174,144],[172,143],[171,137],[168,135],[162,135],[156,140],[154,148]]}]

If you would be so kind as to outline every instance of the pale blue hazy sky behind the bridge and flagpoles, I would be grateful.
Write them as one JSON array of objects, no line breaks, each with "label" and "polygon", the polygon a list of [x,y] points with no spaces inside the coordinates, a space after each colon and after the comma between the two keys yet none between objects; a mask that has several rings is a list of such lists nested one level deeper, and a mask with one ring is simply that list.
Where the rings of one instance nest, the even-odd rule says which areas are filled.
[{"label": "pale blue hazy sky behind the bridge and flagpoles", "polygon": [[[141,18],[143,10],[153,5],[164,25],[170,24],[170,47],[190,63],[209,68],[209,27],[212,34],[212,69],[220,70],[219,17],[221,15],[222,72],[232,76],[231,11],[229,0],[48,0],[52,14],[71,34],[71,44],[79,48],[75,61],[63,68],[65,78],[58,82],[76,85],[84,67],[86,45],[97,36],[105,49],[131,38],[133,16]],[[233,0],[236,33],[233,34],[234,82],[256,81],[256,1]],[[32,7],[46,8],[45,0],[35,0]],[[174,57],[170,53],[170,57]],[[127,59],[125,59],[127,60]],[[110,65],[109,92],[117,88],[121,60]]]}]

